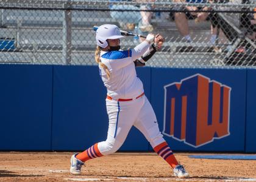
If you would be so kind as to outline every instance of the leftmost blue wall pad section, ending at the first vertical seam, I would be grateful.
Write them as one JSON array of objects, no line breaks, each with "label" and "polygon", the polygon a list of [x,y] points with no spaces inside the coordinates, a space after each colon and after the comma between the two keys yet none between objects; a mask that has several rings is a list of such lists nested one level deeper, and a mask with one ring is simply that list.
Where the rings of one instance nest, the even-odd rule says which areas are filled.
[{"label": "leftmost blue wall pad section, ending at the first vertical seam", "polygon": [[0,65],[0,150],[51,150],[52,66]]}]

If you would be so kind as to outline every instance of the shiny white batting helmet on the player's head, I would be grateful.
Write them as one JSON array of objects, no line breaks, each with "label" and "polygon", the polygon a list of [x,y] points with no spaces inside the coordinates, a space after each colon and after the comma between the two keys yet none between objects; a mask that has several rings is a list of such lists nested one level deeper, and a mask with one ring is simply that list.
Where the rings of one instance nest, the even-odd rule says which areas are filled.
[{"label": "shiny white batting helmet on the player's head", "polygon": [[119,28],[112,24],[101,25],[96,31],[97,45],[102,48],[107,47],[107,39],[119,39],[123,37],[124,36],[121,35]]}]

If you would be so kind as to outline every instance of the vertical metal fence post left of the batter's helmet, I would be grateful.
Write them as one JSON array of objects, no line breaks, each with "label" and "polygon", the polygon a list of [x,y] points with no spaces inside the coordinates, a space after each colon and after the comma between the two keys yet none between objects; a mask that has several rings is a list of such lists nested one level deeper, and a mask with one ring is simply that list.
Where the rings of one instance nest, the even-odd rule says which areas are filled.
[{"label": "vertical metal fence post left of the batter's helmet", "polygon": [[[69,8],[71,1],[68,0],[64,4],[64,8]],[[72,13],[71,10],[65,10],[63,12],[63,41],[62,41],[62,55],[63,62],[71,64],[71,24],[72,24]]]}]

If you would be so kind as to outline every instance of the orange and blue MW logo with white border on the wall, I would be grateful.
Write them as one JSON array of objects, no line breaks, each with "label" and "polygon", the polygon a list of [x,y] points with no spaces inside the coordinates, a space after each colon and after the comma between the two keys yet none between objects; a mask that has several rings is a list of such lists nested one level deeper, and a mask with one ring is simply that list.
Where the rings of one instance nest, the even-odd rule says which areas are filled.
[{"label": "orange and blue MW logo with white border on the wall", "polygon": [[199,147],[230,134],[230,87],[197,73],[164,88],[165,135]]}]

